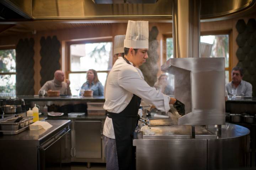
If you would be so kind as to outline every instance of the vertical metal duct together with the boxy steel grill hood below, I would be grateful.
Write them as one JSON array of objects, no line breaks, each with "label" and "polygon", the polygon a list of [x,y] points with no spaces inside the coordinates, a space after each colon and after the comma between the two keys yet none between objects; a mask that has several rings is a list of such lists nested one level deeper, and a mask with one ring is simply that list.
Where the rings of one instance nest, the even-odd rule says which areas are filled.
[{"label": "vertical metal duct together with the boxy steel grill hood below", "polygon": [[225,124],[224,58],[200,58],[200,0],[172,0],[174,57],[162,71],[175,75],[175,98],[185,104],[178,125]]}]

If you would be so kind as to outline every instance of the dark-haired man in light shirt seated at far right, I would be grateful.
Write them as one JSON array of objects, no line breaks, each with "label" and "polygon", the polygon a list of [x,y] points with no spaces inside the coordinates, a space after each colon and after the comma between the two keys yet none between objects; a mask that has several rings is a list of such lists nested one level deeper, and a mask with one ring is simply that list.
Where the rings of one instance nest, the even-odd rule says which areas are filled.
[{"label": "dark-haired man in light shirt seated at far right", "polygon": [[251,83],[242,80],[244,71],[240,67],[234,67],[232,69],[232,81],[226,84],[226,90],[228,95],[232,94],[232,89],[236,89],[236,96],[252,96],[252,85]]}]

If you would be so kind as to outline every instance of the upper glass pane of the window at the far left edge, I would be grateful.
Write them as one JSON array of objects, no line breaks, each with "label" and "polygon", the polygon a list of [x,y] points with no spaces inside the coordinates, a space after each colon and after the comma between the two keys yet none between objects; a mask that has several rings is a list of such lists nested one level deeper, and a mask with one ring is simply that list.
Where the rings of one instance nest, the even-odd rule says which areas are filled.
[{"label": "upper glass pane of the window at the far left edge", "polygon": [[15,73],[15,49],[0,50],[0,72],[1,73]]}]

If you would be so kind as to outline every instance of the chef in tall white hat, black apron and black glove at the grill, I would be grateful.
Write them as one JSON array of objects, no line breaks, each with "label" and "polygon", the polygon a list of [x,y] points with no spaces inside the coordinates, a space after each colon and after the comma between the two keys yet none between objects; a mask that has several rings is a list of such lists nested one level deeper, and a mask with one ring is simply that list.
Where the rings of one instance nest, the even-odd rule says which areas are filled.
[{"label": "chef in tall white hat, black apron and black glove at the grill", "polygon": [[178,113],[185,114],[183,103],[150,87],[135,68],[148,58],[148,38],[148,21],[128,21],[124,58],[118,58],[107,78],[103,128],[107,170],[136,169],[132,140],[141,100],[165,112],[174,104]]}]

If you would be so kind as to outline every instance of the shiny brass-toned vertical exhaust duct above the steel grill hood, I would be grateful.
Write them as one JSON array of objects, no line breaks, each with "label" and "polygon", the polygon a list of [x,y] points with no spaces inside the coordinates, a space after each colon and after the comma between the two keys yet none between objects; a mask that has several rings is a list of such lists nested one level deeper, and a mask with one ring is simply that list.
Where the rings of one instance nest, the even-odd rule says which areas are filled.
[{"label": "shiny brass-toned vertical exhaust duct above the steel grill hood", "polygon": [[175,58],[200,56],[200,0],[172,0]]}]

